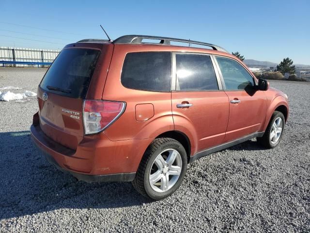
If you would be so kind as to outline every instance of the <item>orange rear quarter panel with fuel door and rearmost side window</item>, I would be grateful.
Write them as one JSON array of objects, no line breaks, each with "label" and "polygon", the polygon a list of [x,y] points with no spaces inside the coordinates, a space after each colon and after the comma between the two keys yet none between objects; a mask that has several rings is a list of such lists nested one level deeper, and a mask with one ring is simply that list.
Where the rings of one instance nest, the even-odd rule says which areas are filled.
[{"label": "orange rear quarter panel with fuel door and rearmost side window", "polygon": [[155,138],[173,130],[171,52],[160,47],[115,45],[103,99],[126,102],[126,109],[104,131],[110,140]]}]

